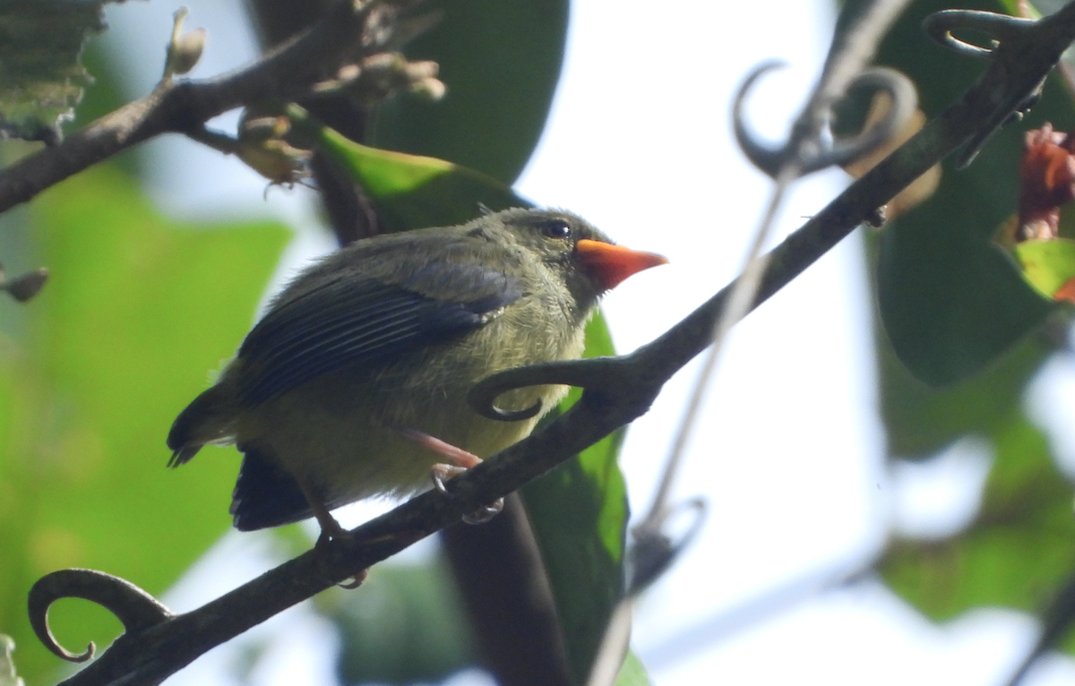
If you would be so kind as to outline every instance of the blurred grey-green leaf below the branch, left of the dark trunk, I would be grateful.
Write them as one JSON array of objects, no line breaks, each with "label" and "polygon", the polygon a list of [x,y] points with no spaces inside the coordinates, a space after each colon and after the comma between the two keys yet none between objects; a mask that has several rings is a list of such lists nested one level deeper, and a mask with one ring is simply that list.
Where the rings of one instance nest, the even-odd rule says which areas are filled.
[{"label": "blurred grey-green leaf below the branch, left of the dark trunk", "polygon": [[340,629],[344,684],[440,682],[476,662],[462,601],[443,561],[386,562],[360,594],[318,597]]}]

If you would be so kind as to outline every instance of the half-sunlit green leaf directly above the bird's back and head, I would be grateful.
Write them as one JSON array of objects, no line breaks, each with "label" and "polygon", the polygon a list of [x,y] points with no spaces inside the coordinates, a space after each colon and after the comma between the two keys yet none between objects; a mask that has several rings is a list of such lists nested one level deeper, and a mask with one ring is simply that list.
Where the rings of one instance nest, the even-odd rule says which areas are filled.
[{"label": "half-sunlit green leaf directly above the bird's back and head", "polygon": [[432,157],[367,147],[328,127],[318,143],[361,184],[389,232],[427,226],[454,226],[489,210],[529,208],[504,184],[473,169]]}]

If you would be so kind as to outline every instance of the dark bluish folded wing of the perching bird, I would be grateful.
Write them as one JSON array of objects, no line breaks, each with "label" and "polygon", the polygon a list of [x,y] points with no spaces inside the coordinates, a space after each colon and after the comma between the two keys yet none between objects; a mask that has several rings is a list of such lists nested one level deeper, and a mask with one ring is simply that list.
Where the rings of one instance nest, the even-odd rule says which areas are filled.
[{"label": "dark bluish folded wing of the perching bird", "polygon": [[447,340],[522,296],[517,278],[478,262],[431,262],[398,282],[340,276],[273,308],[239,349],[244,400]]}]

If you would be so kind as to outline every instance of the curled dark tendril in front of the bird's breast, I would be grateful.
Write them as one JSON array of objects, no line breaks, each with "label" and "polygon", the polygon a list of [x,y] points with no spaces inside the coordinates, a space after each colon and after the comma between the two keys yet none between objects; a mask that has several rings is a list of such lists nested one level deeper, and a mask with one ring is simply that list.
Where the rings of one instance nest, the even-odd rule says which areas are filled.
[{"label": "curled dark tendril in front of the bird's breast", "polygon": [[617,358],[613,357],[591,357],[582,360],[543,362],[507,369],[475,384],[467,394],[467,402],[475,412],[489,419],[499,421],[529,419],[541,412],[540,400],[526,410],[504,410],[497,406],[497,398],[510,390],[528,386],[557,384],[582,388],[593,386],[610,377],[608,367],[614,365],[616,360]]}]

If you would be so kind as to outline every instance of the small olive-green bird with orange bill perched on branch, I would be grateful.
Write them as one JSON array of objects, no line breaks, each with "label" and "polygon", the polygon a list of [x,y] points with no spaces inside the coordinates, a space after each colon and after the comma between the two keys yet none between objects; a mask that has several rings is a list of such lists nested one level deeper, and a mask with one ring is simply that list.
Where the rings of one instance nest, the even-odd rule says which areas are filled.
[{"label": "small olive-green bird with orange bill perched on branch", "polygon": [[[576,358],[598,298],[664,263],[612,244],[568,212],[507,210],[470,224],[358,241],[306,269],[272,302],[216,385],[172,425],[170,467],[205,444],[243,463],[241,531],[371,496],[406,496],[447,459],[470,467],[539,417],[487,419],[465,400],[493,372]],[[498,405],[554,408],[567,388],[521,388]]]}]

